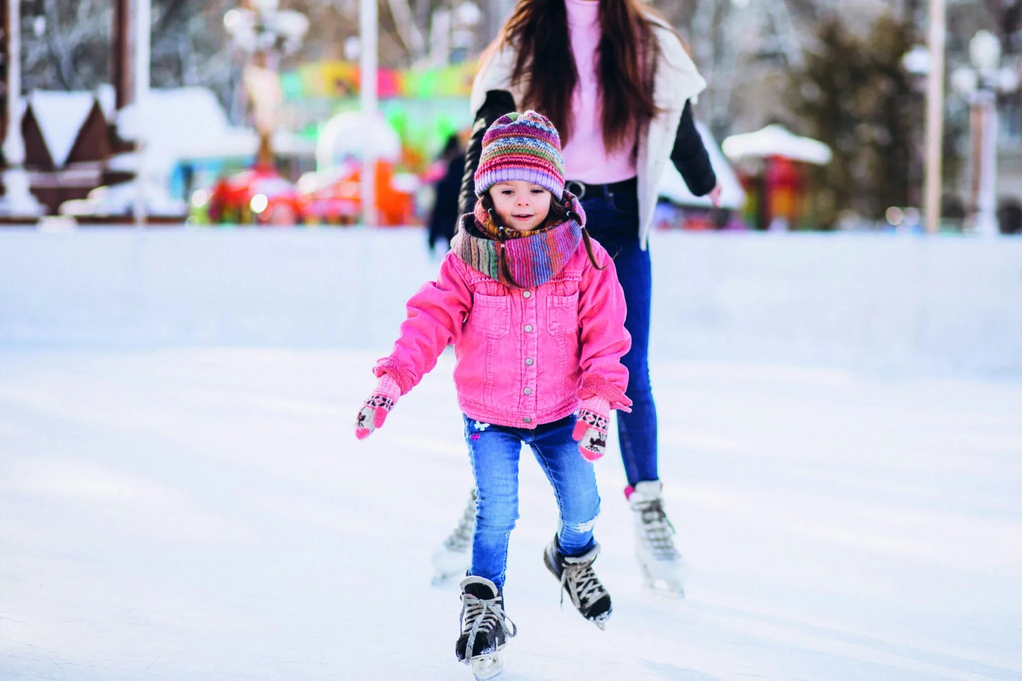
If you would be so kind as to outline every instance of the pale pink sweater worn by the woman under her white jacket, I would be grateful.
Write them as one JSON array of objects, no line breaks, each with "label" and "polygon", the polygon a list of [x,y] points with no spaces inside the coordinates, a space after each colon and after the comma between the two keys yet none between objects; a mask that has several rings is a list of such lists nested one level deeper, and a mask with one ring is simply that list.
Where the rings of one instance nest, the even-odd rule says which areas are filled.
[{"label": "pale pink sweater worn by the woman under her white jacket", "polygon": [[571,138],[564,145],[567,180],[593,184],[618,182],[636,177],[632,145],[613,152],[603,146],[603,102],[597,86],[597,47],[600,45],[598,0],[564,0],[568,10],[571,52],[578,69],[578,85],[571,99]]}]

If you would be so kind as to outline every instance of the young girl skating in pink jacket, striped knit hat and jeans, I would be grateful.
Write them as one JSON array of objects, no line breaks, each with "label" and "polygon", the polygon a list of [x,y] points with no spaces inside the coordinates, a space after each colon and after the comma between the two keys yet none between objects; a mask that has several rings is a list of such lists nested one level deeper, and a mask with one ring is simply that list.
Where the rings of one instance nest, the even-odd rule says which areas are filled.
[{"label": "young girl skating in pink jacket, striped knit hat and jeans", "polygon": [[509,113],[490,127],[474,176],[475,210],[462,216],[436,281],[409,300],[401,337],[374,368],[379,382],[356,426],[360,439],[382,426],[454,344],[478,490],[456,653],[478,678],[500,673],[497,653],[515,634],[503,588],[523,442],[560,512],[547,568],[601,629],[611,612],[593,572],[600,497],[592,461],[603,454],[610,410],[632,403],[620,362],[631,338],[613,261],[590,239],[563,168],[557,130],[543,115]]}]

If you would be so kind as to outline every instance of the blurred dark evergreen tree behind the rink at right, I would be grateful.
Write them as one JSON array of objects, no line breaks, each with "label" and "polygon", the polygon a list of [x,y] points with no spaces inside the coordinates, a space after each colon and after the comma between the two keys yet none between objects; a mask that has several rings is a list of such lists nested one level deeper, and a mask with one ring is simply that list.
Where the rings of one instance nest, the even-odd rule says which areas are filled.
[{"label": "blurred dark evergreen tree behind the rink at right", "polygon": [[[816,49],[790,74],[796,127],[834,152],[815,173],[825,225],[848,208],[876,220],[889,206],[918,205],[925,99],[901,63],[915,42],[915,29],[889,14],[868,36],[850,33],[835,16],[820,25]],[[951,134],[945,126],[945,139]],[[954,145],[944,148],[947,176],[957,159]]]}]

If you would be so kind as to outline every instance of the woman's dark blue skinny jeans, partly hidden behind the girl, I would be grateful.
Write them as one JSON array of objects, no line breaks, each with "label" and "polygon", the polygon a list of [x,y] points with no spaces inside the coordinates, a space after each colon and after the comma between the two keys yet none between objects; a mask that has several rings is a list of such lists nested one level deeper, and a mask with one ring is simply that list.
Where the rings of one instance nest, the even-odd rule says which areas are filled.
[{"label": "woman's dark blue skinny jeans, partly hidden behind the girl", "polygon": [[649,383],[649,318],[652,274],[649,251],[639,247],[639,198],[636,193],[584,196],[586,229],[614,258],[624,291],[632,349],[621,357],[629,370],[632,414],[617,412],[617,436],[630,485],[657,480],[656,405]]}]

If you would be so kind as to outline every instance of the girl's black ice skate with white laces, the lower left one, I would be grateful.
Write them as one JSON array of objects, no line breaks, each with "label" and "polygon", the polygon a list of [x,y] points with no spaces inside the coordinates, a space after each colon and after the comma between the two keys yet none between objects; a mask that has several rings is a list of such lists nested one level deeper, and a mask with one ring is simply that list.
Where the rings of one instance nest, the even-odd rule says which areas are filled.
[{"label": "girl's black ice skate with white laces, the lower left one", "polygon": [[472,668],[476,679],[492,679],[504,671],[502,651],[518,633],[504,614],[504,594],[485,577],[461,581],[461,635],[455,644],[458,662]]}]

